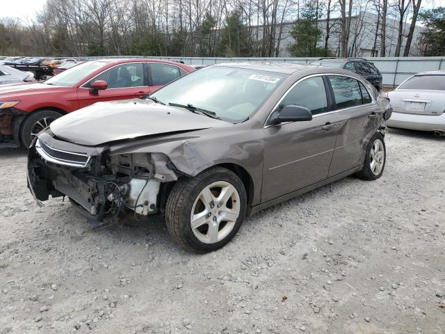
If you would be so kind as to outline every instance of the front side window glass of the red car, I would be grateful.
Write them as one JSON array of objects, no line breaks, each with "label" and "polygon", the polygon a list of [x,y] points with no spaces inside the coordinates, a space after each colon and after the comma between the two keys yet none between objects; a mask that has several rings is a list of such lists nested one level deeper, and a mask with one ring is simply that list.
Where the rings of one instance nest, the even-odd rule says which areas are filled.
[{"label": "front side window glass of the red car", "polygon": [[143,63],[127,63],[111,67],[102,72],[97,77],[91,79],[86,87],[89,87],[92,81],[104,80],[108,88],[129,88],[144,86]]}]

